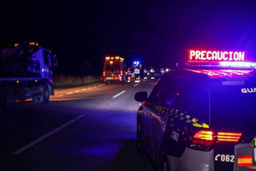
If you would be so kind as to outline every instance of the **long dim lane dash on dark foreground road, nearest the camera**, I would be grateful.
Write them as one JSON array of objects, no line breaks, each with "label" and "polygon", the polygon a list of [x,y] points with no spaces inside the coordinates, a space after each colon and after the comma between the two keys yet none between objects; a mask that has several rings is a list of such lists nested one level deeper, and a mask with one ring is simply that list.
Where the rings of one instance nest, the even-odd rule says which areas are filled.
[{"label": "long dim lane dash on dark foreground road, nearest the camera", "polygon": [[56,132],[60,131],[61,129],[66,128],[71,123],[76,122],[76,120],[79,120],[84,116],[85,116],[84,114],[81,114],[80,116],[75,117],[75,119],[69,120],[69,122],[64,123],[63,125],[59,126],[58,128],[55,128],[54,130],[48,132],[47,134],[43,135],[42,137],[37,138],[36,140],[32,141],[31,143],[28,143],[27,145],[23,146],[22,148],[18,149],[17,151],[12,152],[11,154],[18,155],[18,154],[26,151],[27,149],[30,149],[31,147],[33,147],[37,143],[40,143],[40,141],[45,140],[45,138],[48,138],[49,136],[51,136],[51,135],[55,134]]}]

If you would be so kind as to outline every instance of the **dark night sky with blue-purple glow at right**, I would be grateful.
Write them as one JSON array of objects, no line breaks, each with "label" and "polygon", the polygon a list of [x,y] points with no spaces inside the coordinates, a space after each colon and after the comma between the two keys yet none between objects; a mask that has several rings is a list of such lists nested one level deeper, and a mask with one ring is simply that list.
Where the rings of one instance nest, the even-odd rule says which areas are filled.
[{"label": "dark night sky with blue-purple glow at right", "polygon": [[1,48],[36,40],[57,53],[58,73],[101,73],[111,54],[147,67],[184,61],[188,49],[243,50],[256,60],[253,0],[1,3]]}]

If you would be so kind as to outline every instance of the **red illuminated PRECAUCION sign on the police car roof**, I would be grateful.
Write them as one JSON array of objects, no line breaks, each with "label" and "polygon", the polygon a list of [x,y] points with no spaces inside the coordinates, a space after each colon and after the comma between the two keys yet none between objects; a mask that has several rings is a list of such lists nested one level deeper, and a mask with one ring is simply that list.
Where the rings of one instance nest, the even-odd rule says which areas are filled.
[{"label": "red illuminated PRECAUCION sign on the police car roof", "polygon": [[245,61],[245,52],[240,51],[189,51],[190,61]]}]

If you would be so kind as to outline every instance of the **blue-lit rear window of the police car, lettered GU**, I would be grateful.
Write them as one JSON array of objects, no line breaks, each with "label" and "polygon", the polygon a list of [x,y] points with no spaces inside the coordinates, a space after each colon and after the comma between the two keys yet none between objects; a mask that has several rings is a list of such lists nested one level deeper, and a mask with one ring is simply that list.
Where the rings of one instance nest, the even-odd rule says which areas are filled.
[{"label": "blue-lit rear window of the police car, lettered GU", "polygon": [[256,128],[256,80],[222,81],[210,87],[211,126],[216,128]]}]

